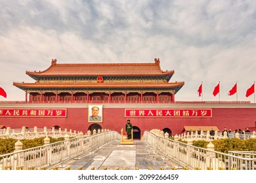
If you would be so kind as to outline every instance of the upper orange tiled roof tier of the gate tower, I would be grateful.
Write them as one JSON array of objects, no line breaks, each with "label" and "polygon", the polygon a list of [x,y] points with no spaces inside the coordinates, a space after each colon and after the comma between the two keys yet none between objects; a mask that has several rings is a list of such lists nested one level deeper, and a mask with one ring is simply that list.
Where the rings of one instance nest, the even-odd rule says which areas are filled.
[{"label": "upper orange tiled roof tier of the gate tower", "polygon": [[174,71],[162,71],[160,60],[155,63],[56,63],[53,59],[45,71],[26,71],[26,75],[35,76],[167,76]]}]

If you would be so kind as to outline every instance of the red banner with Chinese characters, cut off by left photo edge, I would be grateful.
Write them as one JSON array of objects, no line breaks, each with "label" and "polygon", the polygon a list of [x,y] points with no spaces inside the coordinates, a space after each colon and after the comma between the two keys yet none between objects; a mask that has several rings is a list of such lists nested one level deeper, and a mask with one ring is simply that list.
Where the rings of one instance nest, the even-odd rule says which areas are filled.
[{"label": "red banner with Chinese characters, cut off by left photo edge", "polygon": [[67,116],[66,108],[0,108],[0,117],[62,117]]}]

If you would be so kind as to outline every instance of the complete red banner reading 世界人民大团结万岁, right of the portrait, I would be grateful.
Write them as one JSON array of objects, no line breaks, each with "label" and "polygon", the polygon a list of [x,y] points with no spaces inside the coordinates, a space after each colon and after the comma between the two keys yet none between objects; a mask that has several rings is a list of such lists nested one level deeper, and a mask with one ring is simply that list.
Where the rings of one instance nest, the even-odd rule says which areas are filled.
[{"label": "complete red banner reading \u4e16\u754c\u4eba\u6c11\u5927\u56e2\u7ed3\u4e07\u5c81, right of the portrait", "polygon": [[211,118],[211,108],[125,108],[129,118]]}]

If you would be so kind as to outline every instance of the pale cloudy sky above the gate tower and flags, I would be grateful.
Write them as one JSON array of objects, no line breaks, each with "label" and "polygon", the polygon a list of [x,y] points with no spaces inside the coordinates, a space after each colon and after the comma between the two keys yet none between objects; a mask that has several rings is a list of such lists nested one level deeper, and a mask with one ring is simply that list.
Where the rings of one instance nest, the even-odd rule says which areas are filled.
[{"label": "pale cloudy sky above the gate tower and flags", "polygon": [[7,99],[25,94],[12,82],[58,63],[154,63],[184,81],[177,101],[238,101],[256,80],[256,1],[0,0],[0,87]]}]

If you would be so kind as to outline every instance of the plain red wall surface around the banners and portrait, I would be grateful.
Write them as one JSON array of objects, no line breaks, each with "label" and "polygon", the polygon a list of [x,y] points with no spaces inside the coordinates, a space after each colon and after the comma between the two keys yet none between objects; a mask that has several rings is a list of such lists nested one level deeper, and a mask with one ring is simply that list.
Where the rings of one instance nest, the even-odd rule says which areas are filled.
[{"label": "plain red wall surface around the banners and portrait", "polygon": [[[19,107],[20,108],[20,107]],[[54,125],[67,128],[68,131],[83,131],[87,133],[89,126],[93,123],[88,123],[88,108],[81,107],[57,107],[67,108],[66,118],[0,118],[0,125],[5,125],[11,128],[21,128],[26,126],[33,128],[51,128]],[[128,107],[127,107],[128,108]],[[131,108],[131,107],[129,107]],[[149,107],[147,107],[149,108]],[[194,108],[194,107],[193,107]],[[209,108],[209,107],[207,107]],[[163,129],[169,128],[172,135],[182,133],[184,125],[215,125],[220,131],[224,127],[228,129],[242,129],[245,127],[255,127],[256,108],[212,108],[212,118],[129,118],[133,126],[139,127],[141,135],[144,130],[148,129]],[[111,129],[121,131],[125,128],[127,118],[125,118],[125,108],[121,107],[103,107],[103,122],[98,123],[103,129]]]}]

